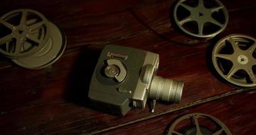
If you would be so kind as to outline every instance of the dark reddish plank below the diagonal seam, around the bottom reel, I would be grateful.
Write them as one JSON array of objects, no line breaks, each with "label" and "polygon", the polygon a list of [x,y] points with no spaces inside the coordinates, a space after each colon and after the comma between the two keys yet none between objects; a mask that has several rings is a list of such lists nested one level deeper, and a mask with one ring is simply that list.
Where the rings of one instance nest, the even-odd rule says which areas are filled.
[{"label": "dark reddish plank below the diagonal seam, around the bottom reel", "polygon": [[242,92],[197,107],[182,109],[181,111],[161,115],[154,119],[147,119],[140,123],[103,132],[102,134],[167,134],[172,123],[178,117],[188,113],[207,113],[213,115],[213,117],[220,119],[232,134],[256,134],[255,98],[256,91]]}]

